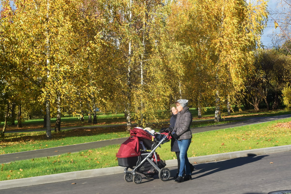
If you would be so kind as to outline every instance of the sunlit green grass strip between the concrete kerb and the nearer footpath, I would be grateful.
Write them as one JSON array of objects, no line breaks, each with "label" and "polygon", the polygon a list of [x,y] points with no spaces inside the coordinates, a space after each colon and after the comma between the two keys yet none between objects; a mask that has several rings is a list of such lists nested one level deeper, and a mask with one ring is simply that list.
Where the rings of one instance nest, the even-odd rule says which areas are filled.
[{"label": "sunlit green grass strip between the concrete kerb and the nearer footpath", "polygon": [[[188,157],[291,144],[290,123],[287,127],[276,126],[290,121],[291,118],[193,134]],[[0,180],[117,166],[115,155],[119,147],[120,145],[111,145],[78,153],[2,164]],[[157,152],[163,160],[175,159],[169,142],[158,148]]]}]

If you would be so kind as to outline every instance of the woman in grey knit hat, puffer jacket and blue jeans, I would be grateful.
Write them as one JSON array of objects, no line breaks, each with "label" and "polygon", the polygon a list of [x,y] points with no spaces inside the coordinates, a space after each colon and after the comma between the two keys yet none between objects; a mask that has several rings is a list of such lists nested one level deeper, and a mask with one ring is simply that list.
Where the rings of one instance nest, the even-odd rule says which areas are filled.
[{"label": "woman in grey knit hat, puffer jacket and blue jeans", "polygon": [[[188,181],[191,179],[187,151],[192,138],[192,133],[190,130],[192,114],[189,112],[189,107],[187,107],[188,100],[180,99],[175,104],[177,106],[178,116],[172,132],[172,136],[178,141],[178,146],[180,149],[180,170],[178,177],[174,181],[180,183],[182,181]],[[184,169],[186,172],[183,179]]]}]

